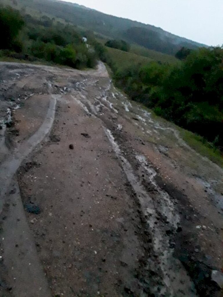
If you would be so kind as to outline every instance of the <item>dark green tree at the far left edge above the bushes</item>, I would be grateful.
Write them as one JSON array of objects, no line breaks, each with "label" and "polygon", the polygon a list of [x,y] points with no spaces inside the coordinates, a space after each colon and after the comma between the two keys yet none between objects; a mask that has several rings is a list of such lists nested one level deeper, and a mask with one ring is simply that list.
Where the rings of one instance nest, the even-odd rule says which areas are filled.
[{"label": "dark green tree at the far left edge above the bushes", "polygon": [[0,9],[1,49],[15,49],[18,46],[19,31],[24,25],[24,20],[17,10],[10,7]]}]

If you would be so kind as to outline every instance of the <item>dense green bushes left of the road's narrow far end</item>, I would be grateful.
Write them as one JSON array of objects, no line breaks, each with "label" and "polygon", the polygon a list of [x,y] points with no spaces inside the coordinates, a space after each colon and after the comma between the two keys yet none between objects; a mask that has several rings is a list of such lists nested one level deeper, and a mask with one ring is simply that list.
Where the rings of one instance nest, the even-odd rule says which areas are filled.
[{"label": "dense green bushes left of the road's narrow far end", "polygon": [[78,69],[95,67],[97,51],[83,44],[73,26],[46,16],[37,20],[26,14],[24,19],[17,10],[0,8],[0,49],[7,49],[2,53],[18,56],[11,50],[29,61],[37,58]]}]

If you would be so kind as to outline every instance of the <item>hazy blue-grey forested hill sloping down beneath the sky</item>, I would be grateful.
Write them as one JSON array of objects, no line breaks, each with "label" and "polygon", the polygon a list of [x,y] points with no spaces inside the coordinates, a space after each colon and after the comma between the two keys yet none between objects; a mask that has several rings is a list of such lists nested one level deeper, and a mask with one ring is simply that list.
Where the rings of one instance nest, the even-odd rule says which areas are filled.
[{"label": "hazy blue-grey forested hill sloping down beneath the sky", "polygon": [[[15,3],[16,0],[12,1]],[[78,4],[57,0],[19,0],[18,4],[26,10],[38,10],[107,37],[130,41],[161,53],[175,55],[183,46],[191,49],[206,46],[152,25],[107,15]]]}]

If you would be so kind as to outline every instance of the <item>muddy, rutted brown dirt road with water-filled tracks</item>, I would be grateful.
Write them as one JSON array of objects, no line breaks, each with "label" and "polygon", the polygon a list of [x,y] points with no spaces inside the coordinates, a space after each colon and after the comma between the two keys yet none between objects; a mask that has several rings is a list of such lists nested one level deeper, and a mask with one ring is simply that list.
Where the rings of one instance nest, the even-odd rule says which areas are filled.
[{"label": "muddy, rutted brown dirt road with water-filled tracks", "polygon": [[0,296],[222,296],[221,168],[102,63],[1,63],[0,95]]}]

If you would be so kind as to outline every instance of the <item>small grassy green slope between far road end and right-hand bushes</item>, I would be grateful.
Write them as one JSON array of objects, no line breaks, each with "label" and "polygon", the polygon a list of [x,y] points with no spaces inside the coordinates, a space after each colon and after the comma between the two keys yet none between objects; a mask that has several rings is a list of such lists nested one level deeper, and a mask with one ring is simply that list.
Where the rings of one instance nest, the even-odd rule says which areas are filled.
[{"label": "small grassy green slope between far road end and right-hand bushes", "polygon": [[148,64],[152,59],[136,55],[134,53],[124,52],[122,50],[117,50],[116,48],[107,48],[107,52],[110,59],[113,61],[117,70],[123,70],[126,67],[138,65],[138,64]]}]

